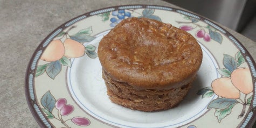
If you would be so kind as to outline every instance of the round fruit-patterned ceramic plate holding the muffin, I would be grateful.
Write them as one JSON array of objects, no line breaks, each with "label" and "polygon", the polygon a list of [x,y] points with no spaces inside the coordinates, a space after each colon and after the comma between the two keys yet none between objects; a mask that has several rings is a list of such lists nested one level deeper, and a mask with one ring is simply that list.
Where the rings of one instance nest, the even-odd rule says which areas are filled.
[{"label": "round fruit-patterned ceramic plate holding the muffin", "polygon": [[[99,41],[121,20],[146,17],[195,37],[203,62],[189,94],[173,109],[130,110],[107,96]],[[34,52],[25,93],[41,127],[250,127],[255,121],[255,63],[245,47],[208,19],[155,5],[113,6],[58,27]]]}]

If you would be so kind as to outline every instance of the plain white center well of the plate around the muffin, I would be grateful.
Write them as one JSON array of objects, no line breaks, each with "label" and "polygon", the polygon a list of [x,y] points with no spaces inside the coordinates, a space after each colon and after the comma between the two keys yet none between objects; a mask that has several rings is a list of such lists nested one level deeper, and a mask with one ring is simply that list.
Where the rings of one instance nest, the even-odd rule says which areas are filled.
[{"label": "plain white center well of the plate around the muffin", "polygon": [[[85,45],[92,44],[98,48],[99,41],[109,31],[96,35]],[[217,96],[202,98],[197,91],[209,87],[219,77],[217,62],[207,49],[203,49],[203,62],[197,79],[189,94],[173,109],[157,112],[130,110],[114,104],[107,96],[105,82],[102,79],[99,59],[88,56],[72,59],[72,67],[67,70],[67,86],[74,101],[89,115],[102,122],[120,127],[177,127],[202,116],[207,111],[207,104]],[[97,49],[96,49],[97,50]]]}]

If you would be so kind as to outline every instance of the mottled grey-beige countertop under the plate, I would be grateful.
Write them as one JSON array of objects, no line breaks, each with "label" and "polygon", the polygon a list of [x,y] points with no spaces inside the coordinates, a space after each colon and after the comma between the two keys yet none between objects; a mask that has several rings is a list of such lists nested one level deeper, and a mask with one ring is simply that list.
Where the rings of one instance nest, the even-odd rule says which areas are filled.
[{"label": "mottled grey-beige countertop under the plate", "polygon": [[[61,24],[96,9],[115,5],[152,4],[179,8],[156,0],[100,1],[0,1],[0,126],[39,127],[25,98],[26,68],[33,52],[44,38]],[[222,25],[220,25],[222,26]],[[234,32],[256,60],[256,42]]]}]

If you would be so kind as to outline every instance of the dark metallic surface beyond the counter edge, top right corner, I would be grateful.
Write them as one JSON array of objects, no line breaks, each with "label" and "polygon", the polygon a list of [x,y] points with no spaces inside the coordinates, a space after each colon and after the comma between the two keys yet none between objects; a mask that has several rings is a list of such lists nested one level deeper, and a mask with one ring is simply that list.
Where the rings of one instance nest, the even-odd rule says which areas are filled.
[{"label": "dark metallic surface beyond the counter edge, top right corner", "polygon": [[165,0],[240,32],[256,11],[255,0]]}]

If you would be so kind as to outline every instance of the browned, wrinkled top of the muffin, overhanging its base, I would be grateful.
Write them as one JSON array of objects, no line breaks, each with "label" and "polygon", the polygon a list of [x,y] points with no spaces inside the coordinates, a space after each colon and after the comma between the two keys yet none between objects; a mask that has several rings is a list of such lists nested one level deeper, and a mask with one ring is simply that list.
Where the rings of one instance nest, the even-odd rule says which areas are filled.
[{"label": "browned, wrinkled top of the muffin, overhanging its base", "polygon": [[147,18],[117,24],[98,47],[103,70],[137,89],[188,84],[202,63],[202,49],[189,33]]}]

